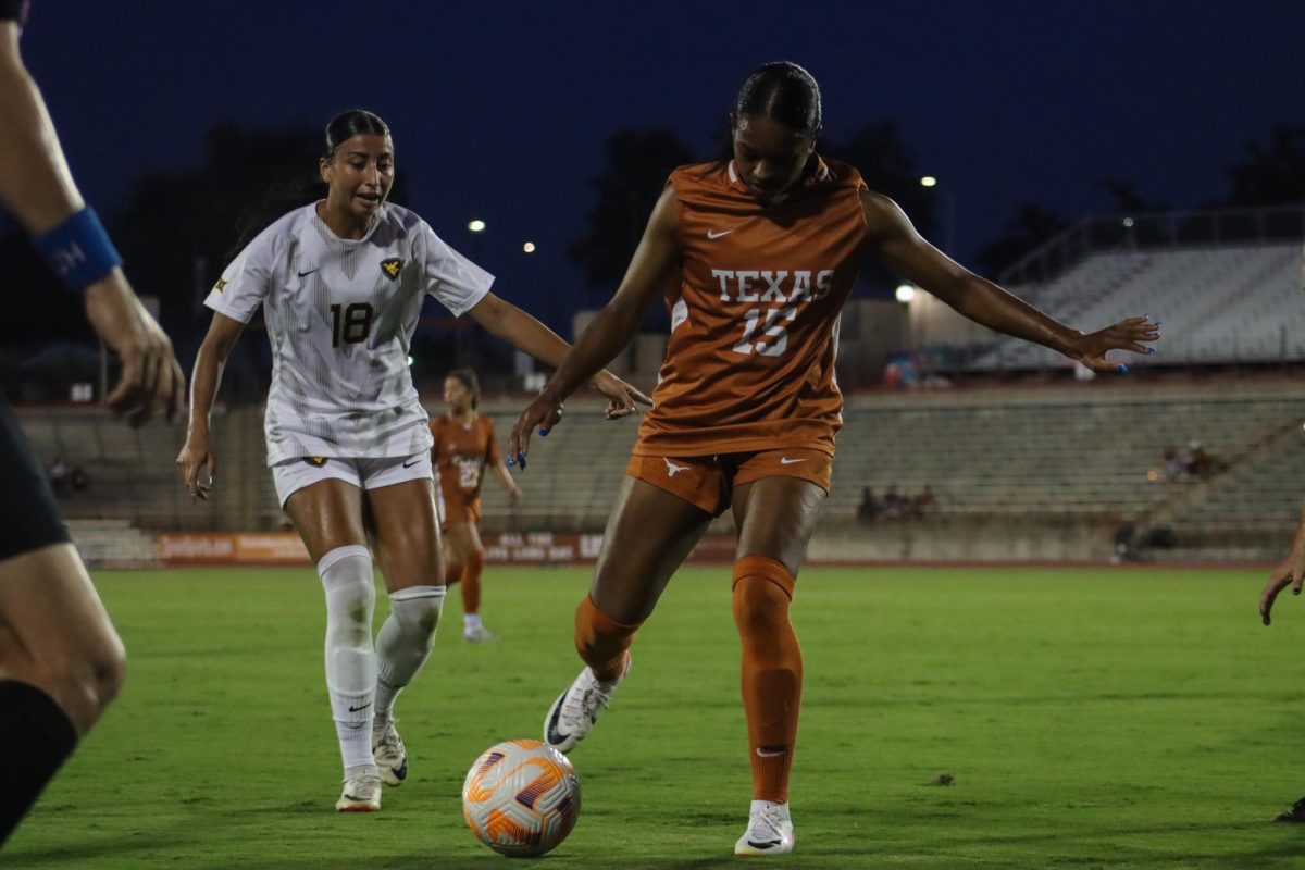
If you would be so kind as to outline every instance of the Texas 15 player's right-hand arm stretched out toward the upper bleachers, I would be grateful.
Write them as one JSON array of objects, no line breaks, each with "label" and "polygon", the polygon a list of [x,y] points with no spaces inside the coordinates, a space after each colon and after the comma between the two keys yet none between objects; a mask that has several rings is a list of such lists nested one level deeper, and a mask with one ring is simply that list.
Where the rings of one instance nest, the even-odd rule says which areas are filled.
[{"label": "Texas 15 player's right-hand arm stretched out toward the upper bleachers", "polygon": [[1109,351],[1155,352],[1146,343],[1160,338],[1159,323],[1147,317],[1130,317],[1098,333],[1079,333],[954,262],[925,241],[887,197],[865,190],[861,207],[874,256],[976,323],[1049,347],[1094,372],[1128,372],[1126,365],[1107,359]]}]

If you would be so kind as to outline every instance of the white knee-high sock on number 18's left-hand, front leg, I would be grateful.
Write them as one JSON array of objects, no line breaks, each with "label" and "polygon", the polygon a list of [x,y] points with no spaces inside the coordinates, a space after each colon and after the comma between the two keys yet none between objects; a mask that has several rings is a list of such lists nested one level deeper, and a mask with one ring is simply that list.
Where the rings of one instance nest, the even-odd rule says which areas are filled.
[{"label": "white knee-high sock on number 18's left-hand, front leg", "polygon": [[337,547],[317,562],[326,592],[326,690],[345,770],[375,764],[372,716],[376,653],[372,612],[376,587],[365,547]]}]

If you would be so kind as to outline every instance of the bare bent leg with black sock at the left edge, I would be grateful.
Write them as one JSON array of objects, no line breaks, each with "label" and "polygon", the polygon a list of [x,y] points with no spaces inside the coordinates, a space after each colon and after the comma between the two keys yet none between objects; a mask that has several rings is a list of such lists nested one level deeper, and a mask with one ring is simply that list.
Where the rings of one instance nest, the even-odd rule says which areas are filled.
[{"label": "bare bent leg with black sock at the left edge", "polygon": [[[67,535],[65,535],[67,537]],[[0,561],[0,844],[117,694],[123,642],[72,544]]]}]

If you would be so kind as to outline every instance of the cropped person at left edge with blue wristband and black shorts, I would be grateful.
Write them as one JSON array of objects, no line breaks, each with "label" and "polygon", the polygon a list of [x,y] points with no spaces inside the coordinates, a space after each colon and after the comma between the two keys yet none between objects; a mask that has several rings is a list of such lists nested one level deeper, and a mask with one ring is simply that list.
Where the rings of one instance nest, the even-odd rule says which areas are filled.
[{"label": "cropped person at left edge with blue wristband and black shorts", "polygon": [[[81,293],[95,333],[123,363],[121,380],[104,403],[133,425],[157,413],[175,420],[185,377],[68,171],[18,50],[25,13],[25,0],[0,0],[0,233],[16,230],[16,220],[70,299]],[[21,309],[20,291],[7,290]],[[3,844],[117,694],[127,660],[3,393],[0,481],[0,745],[8,750]]]}]

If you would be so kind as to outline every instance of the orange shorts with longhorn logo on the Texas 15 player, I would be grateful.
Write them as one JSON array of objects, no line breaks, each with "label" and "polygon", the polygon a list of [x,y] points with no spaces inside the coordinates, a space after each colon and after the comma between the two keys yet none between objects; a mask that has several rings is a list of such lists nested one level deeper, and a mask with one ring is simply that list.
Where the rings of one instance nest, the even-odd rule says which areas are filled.
[{"label": "orange shorts with longhorn logo on the Texas 15 player", "polygon": [[788,447],[718,457],[630,457],[625,473],[679,496],[713,517],[729,507],[733,488],[762,477],[799,477],[826,493],[834,457],[823,450]]}]

